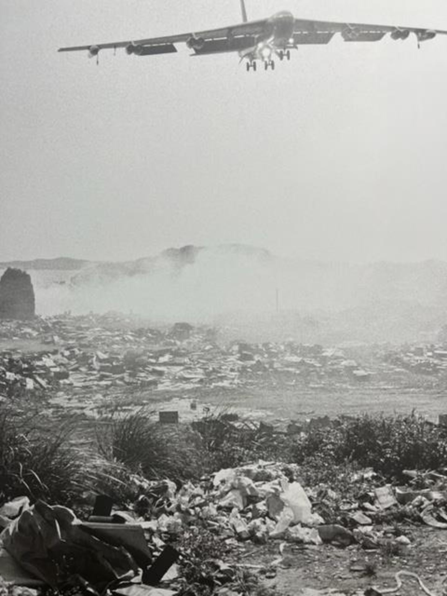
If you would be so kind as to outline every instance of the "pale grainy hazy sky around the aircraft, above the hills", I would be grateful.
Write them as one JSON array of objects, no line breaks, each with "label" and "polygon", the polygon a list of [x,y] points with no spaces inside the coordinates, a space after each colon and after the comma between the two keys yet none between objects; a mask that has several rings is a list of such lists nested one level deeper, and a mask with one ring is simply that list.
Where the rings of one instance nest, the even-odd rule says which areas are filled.
[{"label": "pale grainy hazy sky around the aircraft, above the hills", "polygon": [[[447,29],[445,0],[247,0]],[[238,0],[0,0],[0,260],[246,243],[324,260],[447,260],[447,36],[235,54],[58,54],[240,20]]]}]

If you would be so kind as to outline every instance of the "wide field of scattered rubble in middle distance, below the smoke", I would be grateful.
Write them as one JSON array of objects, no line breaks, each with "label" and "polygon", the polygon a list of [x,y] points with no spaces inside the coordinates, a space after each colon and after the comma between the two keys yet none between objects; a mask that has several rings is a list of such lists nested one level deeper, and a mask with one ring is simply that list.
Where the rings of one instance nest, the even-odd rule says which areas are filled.
[{"label": "wide field of scattered rubble in middle distance, below the smoke", "polygon": [[[32,342],[32,348],[23,347],[23,342]],[[110,390],[179,393],[281,385],[338,392],[356,390],[360,383],[383,390],[401,379],[396,375],[442,375],[447,371],[446,348],[432,344],[376,349],[373,359],[361,362],[349,349],[293,341],[223,344],[218,331],[209,327],[178,323],[153,328],[117,313],[66,313],[0,321],[0,398],[50,392],[55,407],[80,411],[75,398],[85,396],[95,403],[86,405],[86,415],[94,416],[101,407],[96,396]],[[324,423],[324,417],[312,420]],[[291,421],[287,430],[299,434],[302,424]],[[263,431],[271,433],[271,425],[265,424]]]}]

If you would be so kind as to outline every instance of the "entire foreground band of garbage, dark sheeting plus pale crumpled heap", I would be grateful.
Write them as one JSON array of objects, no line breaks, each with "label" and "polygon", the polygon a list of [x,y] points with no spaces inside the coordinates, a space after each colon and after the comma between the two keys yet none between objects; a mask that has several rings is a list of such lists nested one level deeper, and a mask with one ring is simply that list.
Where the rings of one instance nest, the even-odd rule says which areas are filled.
[{"label": "entire foreground band of garbage, dark sheeting plus pale crumpled heap", "polygon": [[[133,476],[139,493],[134,504],[127,511],[112,511],[110,499],[97,498],[88,522],[65,507],[41,501],[30,507],[26,497],[4,504],[0,541],[28,579],[57,588],[76,578],[91,586],[94,594],[114,586],[121,596],[132,596],[122,586],[136,582],[147,587],[164,581],[170,588],[178,587],[176,562],[188,555],[177,548],[181,537],[191,532],[213,533],[235,547],[278,540],[311,548],[323,543],[356,544],[367,551],[386,545],[411,548],[411,538],[396,532],[389,522],[399,512],[401,519],[408,516],[446,529],[447,476],[415,471],[406,475],[408,486],[392,487],[377,486],[370,469],[353,473],[358,497],[348,501],[329,486],[303,488],[300,468],[278,462],[220,470],[179,488],[169,480],[150,482]],[[0,576],[5,575],[5,551],[1,554]],[[279,557],[272,566],[281,561]],[[233,577],[231,566],[213,563],[216,574]],[[11,569],[11,561],[8,565]]]}]

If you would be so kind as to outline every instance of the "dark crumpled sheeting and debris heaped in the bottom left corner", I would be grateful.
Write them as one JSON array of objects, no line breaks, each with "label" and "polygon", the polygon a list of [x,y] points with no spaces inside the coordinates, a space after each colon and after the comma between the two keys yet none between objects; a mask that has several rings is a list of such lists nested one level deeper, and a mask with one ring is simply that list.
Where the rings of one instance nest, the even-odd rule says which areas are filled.
[{"label": "dark crumpled sheeting and debris heaped in the bottom left corner", "polygon": [[[103,523],[91,523],[80,522],[66,507],[50,507],[42,501],[29,507],[24,499],[17,499],[6,507],[10,513],[14,508],[21,510],[20,516],[7,523],[0,538],[12,557],[13,570],[14,563],[23,568],[20,582],[25,585],[35,578],[55,590],[72,586],[100,594],[112,586],[131,585],[138,575],[144,585],[153,585],[178,558],[178,553],[169,548],[164,551],[164,560],[159,557],[154,563],[142,527],[132,523],[125,513],[122,517],[116,515],[113,523],[105,519],[101,519]],[[166,555],[171,559],[167,569]],[[11,569],[8,556],[0,557],[0,564],[7,573]],[[0,573],[4,575],[2,567]],[[146,593],[149,596],[156,592]]]}]

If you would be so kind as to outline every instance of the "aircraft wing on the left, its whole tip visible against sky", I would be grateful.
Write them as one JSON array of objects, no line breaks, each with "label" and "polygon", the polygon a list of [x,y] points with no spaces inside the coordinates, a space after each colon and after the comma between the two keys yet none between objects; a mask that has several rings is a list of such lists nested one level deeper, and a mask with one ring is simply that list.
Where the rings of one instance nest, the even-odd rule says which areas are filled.
[{"label": "aircraft wing on the left, its whole tip visible against sky", "polygon": [[247,44],[252,43],[253,36],[263,32],[265,23],[266,19],[263,19],[241,23],[231,27],[222,27],[221,29],[181,33],[180,35],[166,35],[159,38],[128,39],[127,41],[108,42],[106,44],[77,45],[59,48],[58,51],[76,52],[84,50],[89,51],[92,55],[96,55],[101,49],[126,48],[129,54],[170,54],[177,51],[175,44],[181,43],[185,43],[190,48],[200,51],[204,45],[217,40],[237,39],[242,45],[244,45],[244,40],[246,40]]}]

